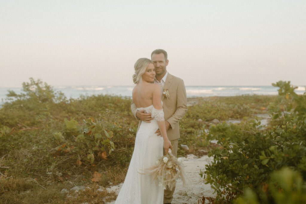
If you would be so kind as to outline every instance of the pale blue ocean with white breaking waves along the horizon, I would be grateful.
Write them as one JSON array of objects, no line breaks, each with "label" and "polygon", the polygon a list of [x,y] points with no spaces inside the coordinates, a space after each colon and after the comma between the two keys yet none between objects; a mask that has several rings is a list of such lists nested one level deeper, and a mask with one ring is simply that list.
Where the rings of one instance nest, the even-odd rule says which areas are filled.
[{"label": "pale blue ocean with white breaking waves along the horizon", "polygon": [[[55,91],[62,91],[67,98],[78,98],[80,95],[119,95],[132,96],[134,86],[54,86]],[[21,93],[21,87],[0,87],[0,104],[6,98],[8,90]],[[273,86],[186,86],[187,97],[237,96],[237,95],[277,95]],[[305,92],[305,86],[298,86],[297,94]]]}]

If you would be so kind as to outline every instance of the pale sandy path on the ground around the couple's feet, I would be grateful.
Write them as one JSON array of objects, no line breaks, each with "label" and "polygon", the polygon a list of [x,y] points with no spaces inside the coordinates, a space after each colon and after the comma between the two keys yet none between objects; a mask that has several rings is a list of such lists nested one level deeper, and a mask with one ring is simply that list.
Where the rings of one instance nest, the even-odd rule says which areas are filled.
[{"label": "pale sandy path on the ground around the couple's feet", "polygon": [[[209,184],[204,184],[200,177],[200,169],[203,169],[206,164],[211,162],[211,158],[207,155],[197,158],[193,154],[189,154],[186,158],[183,157],[182,163],[185,166],[186,176],[189,178],[187,189],[183,187],[181,179],[177,180],[176,189],[173,195],[173,204],[193,204],[198,203],[198,199],[202,196],[213,196],[213,190]],[[120,191],[122,184],[108,188],[109,191],[115,191],[117,194]],[[114,204],[109,202],[107,204]]]}]

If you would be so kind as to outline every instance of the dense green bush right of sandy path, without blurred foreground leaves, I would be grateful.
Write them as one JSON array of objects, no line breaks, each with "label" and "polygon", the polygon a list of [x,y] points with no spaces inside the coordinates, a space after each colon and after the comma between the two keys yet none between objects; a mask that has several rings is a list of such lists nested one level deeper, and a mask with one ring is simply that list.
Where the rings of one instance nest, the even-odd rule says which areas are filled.
[{"label": "dense green bush right of sandy path, without blurred foreground leaves", "polygon": [[[279,98],[268,108],[282,125],[263,129],[260,121],[250,120],[210,127],[209,139],[217,139],[221,147],[209,152],[214,161],[204,173],[217,201],[231,200],[247,187],[261,195],[270,174],[284,166],[306,179],[306,95],[295,94],[290,82],[273,85],[280,87]],[[265,199],[259,197],[259,202]]]}]

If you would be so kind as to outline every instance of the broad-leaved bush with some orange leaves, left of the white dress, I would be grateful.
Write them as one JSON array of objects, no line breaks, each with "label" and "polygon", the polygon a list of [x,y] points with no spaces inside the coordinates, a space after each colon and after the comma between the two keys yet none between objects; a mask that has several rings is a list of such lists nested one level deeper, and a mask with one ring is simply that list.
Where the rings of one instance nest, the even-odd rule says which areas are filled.
[{"label": "broad-leaved bush with some orange leaves, left of the white dress", "polygon": [[65,119],[65,131],[55,132],[54,138],[58,146],[55,149],[57,155],[69,155],[78,165],[85,163],[94,164],[101,159],[107,159],[115,149],[111,140],[113,132],[103,129],[101,122],[93,118],[84,120],[80,126],[76,120]]}]

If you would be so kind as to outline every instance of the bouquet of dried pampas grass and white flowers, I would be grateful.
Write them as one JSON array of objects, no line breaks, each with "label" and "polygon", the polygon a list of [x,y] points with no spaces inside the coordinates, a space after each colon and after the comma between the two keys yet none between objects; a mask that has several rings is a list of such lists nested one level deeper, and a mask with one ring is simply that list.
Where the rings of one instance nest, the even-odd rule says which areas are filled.
[{"label": "bouquet of dried pampas grass and white flowers", "polygon": [[185,172],[181,158],[177,159],[172,154],[171,149],[169,149],[165,156],[157,159],[156,165],[146,169],[142,174],[151,175],[155,182],[159,182],[159,185],[163,186],[164,189],[168,186],[170,191],[175,186],[178,177],[181,177],[184,187],[186,186]]}]

